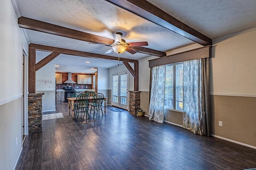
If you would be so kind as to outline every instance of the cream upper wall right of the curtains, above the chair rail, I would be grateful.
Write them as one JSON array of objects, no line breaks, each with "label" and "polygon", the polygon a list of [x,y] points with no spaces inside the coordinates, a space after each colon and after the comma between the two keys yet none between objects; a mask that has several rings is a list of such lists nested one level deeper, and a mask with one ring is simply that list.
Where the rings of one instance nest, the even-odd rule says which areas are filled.
[{"label": "cream upper wall right of the curtains, above the chair rail", "polygon": [[214,42],[210,92],[256,96],[256,29]]}]

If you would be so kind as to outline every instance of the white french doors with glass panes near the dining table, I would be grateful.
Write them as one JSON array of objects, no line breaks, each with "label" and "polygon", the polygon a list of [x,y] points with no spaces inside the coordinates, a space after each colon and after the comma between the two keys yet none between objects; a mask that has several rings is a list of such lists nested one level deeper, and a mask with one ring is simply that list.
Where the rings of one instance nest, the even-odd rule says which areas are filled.
[{"label": "white french doors with glass panes near the dining table", "polygon": [[112,74],[112,106],[128,110],[128,72]]}]

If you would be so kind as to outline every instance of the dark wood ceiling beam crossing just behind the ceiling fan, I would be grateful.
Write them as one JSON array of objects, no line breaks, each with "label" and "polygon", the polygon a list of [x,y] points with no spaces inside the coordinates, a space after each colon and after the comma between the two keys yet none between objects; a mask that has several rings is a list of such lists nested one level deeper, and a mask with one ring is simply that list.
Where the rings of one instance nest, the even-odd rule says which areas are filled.
[{"label": "dark wood ceiling beam crossing just behind the ceiling fan", "polygon": [[[44,32],[44,33],[50,33],[53,35],[59,35],[62,37],[68,37],[68,38],[72,38],[72,39],[78,39],[78,40],[86,41],[86,42],[90,42],[90,43],[106,43],[106,44],[113,43],[113,39],[101,37],[101,36],[90,34],[90,33],[85,33],[82,31],[77,31],[74,29],[54,25],[51,23],[46,23],[43,21],[33,20],[31,18],[26,18],[26,17],[18,18],[18,25],[21,28],[31,29],[34,31],[40,31],[40,32]],[[136,47],[136,51],[137,50],[139,53],[144,53],[144,54],[148,54],[148,55],[154,55],[154,56],[159,56],[159,57],[166,56],[166,53],[164,53],[162,51],[148,49],[146,47],[138,46],[138,47]]]}]

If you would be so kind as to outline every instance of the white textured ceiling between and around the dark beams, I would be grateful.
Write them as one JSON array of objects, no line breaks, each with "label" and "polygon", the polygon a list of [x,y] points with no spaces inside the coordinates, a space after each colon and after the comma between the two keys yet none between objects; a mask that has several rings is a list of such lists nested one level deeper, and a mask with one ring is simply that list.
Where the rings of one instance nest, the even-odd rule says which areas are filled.
[{"label": "white textured ceiling between and around the dark beams", "polygon": [[[113,39],[112,32],[122,32],[124,34],[122,38],[126,42],[148,41],[148,46],[145,47],[158,51],[166,52],[194,43],[105,0],[14,1],[18,4],[16,7],[18,17],[24,16],[110,39]],[[256,0],[148,0],[148,2],[211,39],[256,27]],[[25,30],[30,43],[118,57],[114,52],[104,54],[111,48],[108,46]],[[40,61],[48,54],[45,51],[37,51],[36,61]],[[120,57],[139,60],[148,55],[142,53],[132,55],[124,52]],[[86,73],[95,72],[91,68],[111,68],[118,65],[118,61],[63,54],[50,63],[59,65],[56,67],[58,72]]]}]

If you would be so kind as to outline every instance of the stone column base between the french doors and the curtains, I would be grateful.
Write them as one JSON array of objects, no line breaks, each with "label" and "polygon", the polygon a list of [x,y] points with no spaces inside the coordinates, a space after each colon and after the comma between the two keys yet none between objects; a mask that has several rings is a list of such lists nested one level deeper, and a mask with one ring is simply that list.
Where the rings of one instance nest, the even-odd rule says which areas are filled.
[{"label": "stone column base between the french doors and the curtains", "polygon": [[137,109],[140,109],[140,91],[129,91],[130,92],[130,114],[137,115]]}]

